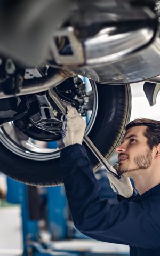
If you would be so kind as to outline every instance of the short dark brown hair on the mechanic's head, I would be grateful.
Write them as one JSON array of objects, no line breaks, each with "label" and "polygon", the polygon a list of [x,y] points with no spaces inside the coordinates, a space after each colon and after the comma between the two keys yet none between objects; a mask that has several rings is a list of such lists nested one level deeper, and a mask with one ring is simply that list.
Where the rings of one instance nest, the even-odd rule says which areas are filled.
[{"label": "short dark brown hair on the mechanic's head", "polygon": [[125,126],[125,131],[134,126],[147,126],[143,135],[147,138],[147,144],[150,149],[160,143],[160,121],[147,118],[134,119]]}]

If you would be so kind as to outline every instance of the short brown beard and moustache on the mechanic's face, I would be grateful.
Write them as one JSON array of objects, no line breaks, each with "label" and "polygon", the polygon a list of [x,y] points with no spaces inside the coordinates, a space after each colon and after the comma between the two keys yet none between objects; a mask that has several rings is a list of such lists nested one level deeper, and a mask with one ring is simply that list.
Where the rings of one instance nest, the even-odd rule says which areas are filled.
[{"label": "short brown beard and moustache on the mechanic's face", "polygon": [[137,165],[137,167],[135,168],[125,168],[119,165],[117,170],[118,174],[123,175],[123,173],[126,173],[126,172],[133,172],[139,169],[147,169],[151,165],[151,161],[152,161],[151,153],[152,153],[152,150],[147,149],[145,154],[134,157],[133,161]]}]

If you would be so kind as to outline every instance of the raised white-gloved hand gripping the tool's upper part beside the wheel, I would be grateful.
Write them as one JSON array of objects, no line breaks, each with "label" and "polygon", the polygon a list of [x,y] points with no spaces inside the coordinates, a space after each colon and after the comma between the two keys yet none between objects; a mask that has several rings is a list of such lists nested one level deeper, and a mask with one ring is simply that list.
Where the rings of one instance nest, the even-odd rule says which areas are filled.
[{"label": "raised white-gloved hand gripping the tool's upper part beside the wheel", "polygon": [[65,147],[73,144],[82,144],[86,123],[77,110],[67,106],[67,115],[62,126],[62,141]]}]

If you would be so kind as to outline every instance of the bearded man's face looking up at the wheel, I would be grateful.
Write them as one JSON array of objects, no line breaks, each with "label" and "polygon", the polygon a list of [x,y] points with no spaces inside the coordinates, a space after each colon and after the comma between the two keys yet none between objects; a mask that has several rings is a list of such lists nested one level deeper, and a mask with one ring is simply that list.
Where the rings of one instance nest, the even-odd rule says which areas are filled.
[{"label": "bearded man's face looking up at the wheel", "polygon": [[126,131],[122,144],[116,148],[119,165],[118,173],[127,176],[135,170],[147,169],[152,162],[152,150],[143,135],[146,126],[135,126]]}]

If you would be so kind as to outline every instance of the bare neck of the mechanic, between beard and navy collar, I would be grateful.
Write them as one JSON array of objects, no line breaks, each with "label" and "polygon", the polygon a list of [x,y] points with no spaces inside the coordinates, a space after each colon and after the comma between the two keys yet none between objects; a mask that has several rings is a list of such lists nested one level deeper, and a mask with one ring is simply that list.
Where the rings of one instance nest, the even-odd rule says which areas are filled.
[{"label": "bare neck of the mechanic, between beard and navy collar", "polygon": [[160,184],[160,174],[156,170],[143,169],[133,171],[129,177],[134,181],[135,189],[140,195]]}]

